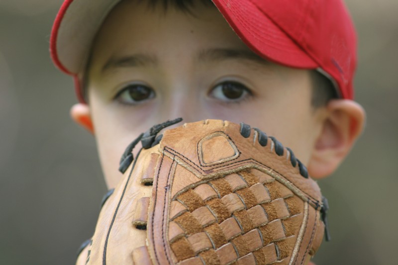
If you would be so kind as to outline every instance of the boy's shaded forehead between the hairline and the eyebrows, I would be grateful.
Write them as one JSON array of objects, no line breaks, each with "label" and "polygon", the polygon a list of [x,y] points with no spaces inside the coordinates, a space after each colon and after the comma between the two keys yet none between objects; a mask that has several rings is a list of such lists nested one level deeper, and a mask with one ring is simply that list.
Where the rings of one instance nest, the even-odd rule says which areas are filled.
[{"label": "boy's shaded forehead between the hairline and the eyebrows", "polygon": [[196,65],[228,60],[251,68],[272,64],[250,50],[214,6],[167,13],[161,6],[147,7],[122,1],[108,14],[91,56],[101,74],[120,68],[157,68],[176,50]]}]

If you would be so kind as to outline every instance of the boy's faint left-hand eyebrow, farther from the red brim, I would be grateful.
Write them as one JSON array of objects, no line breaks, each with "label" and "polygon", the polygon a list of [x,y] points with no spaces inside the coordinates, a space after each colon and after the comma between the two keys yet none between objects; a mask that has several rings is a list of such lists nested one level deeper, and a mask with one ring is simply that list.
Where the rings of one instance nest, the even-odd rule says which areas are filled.
[{"label": "boy's faint left-hand eyebrow, farther from the red brim", "polygon": [[102,72],[110,68],[118,67],[137,67],[137,66],[156,66],[158,58],[148,54],[137,53],[121,57],[110,57],[102,67]]}]

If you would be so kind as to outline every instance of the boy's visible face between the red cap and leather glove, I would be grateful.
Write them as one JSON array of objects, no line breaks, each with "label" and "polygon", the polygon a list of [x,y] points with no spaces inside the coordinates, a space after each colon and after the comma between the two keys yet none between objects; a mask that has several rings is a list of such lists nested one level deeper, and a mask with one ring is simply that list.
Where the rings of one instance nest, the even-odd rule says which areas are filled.
[{"label": "boy's visible face between the red cap and leather glove", "polygon": [[[192,14],[123,1],[94,42],[88,96],[109,187],[125,147],[167,119],[245,122],[309,163],[323,108],[311,107],[309,71],[260,59],[215,7]],[[136,150],[135,150],[136,151]]]}]

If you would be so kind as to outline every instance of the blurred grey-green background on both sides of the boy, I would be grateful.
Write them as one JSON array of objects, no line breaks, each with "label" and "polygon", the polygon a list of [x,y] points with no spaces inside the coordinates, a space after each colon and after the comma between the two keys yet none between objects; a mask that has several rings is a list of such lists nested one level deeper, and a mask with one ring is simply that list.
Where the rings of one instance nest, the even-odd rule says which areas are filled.
[{"label": "blurred grey-green background on both sides of the boy", "polygon": [[[319,181],[332,241],[317,265],[398,264],[398,1],[347,0],[359,34],[367,128]],[[106,191],[94,139],[69,118],[72,79],[52,65],[62,0],[0,0],[0,264],[70,265]]]}]

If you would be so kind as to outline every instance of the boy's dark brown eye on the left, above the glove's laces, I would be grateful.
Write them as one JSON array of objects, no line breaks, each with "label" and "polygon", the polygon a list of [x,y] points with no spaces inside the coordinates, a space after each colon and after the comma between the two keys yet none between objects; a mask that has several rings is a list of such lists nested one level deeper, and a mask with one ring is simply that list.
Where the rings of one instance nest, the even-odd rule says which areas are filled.
[{"label": "boy's dark brown eye on the left, above the glove's laces", "polygon": [[139,101],[153,98],[155,92],[152,88],[144,85],[127,85],[117,95],[116,98],[122,103],[133,104]]}]

